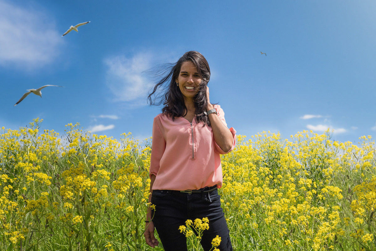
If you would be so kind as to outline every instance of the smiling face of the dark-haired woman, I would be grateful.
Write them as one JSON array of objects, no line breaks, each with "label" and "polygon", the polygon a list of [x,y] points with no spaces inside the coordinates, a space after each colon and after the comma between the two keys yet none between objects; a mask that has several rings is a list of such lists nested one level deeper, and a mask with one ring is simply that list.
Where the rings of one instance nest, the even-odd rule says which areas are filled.
[{"label": "smiling face of the dark-haired woman", "polygon": [[202,79],[193,62],[186,61],[183,62],[179,76],[175,81],[179,83],[180,92],[183,94],[184,100],[186,100],[193,99],[200,89]]}]

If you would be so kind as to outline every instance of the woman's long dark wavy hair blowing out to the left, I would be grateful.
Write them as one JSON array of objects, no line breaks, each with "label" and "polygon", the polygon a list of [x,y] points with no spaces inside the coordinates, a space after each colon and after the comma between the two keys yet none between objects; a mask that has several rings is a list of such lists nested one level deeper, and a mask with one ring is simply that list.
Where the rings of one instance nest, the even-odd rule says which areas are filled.
[{"label": "woman's long dark wavy hair blowing out to the left", "polygon": [[[192,62],[196,66],[201,78],[199,91],[197,91],[194,96],[196,122],[202,121],[204,124],[210,126],[208,116],[204,114],[206,106],[208,105],[206,85],[208,85],[210,80],[210,68],[208,61],[206,61],[205,57],[199,52],[191,50],[184,53],[175,64],[168,64],[165,70],[162,71],[162,74],[159,75],[162,77],[161,80],[154,86],[152,93],[147,97],[148,102],[150,102],[150,105],[161,105],[163,102],[164,107],[162,108],[162,113],[172,116],[173,120],[175,117],[184,117],[187,114],[183,95],[175,82],[179,77],[183,62],[187,61]],[[162,94],[159,98],[157,93],[158,89],[162,89]],[[152,99],[153,95],[155,97]]]}]

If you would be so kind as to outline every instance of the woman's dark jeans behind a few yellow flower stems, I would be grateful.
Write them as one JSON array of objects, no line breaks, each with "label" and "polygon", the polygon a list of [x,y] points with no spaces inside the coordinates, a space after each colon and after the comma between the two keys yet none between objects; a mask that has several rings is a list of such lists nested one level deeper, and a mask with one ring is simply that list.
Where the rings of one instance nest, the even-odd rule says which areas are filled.
[{"label": "woman's dark jeans behind a few yellow flower stems", "polygon": [[218,190],[209,193],[182,193],[174,190],[154,190],[152,204],[155,205],[153,223],[165,251],[187,251],[186,237],[179,226],[187,219],[209,219],[209,230],[203,231],[201,245],[205,251],[212,248],[212,239],[221,237],[218,248],[232,251],[229,229],[221,208]]}]

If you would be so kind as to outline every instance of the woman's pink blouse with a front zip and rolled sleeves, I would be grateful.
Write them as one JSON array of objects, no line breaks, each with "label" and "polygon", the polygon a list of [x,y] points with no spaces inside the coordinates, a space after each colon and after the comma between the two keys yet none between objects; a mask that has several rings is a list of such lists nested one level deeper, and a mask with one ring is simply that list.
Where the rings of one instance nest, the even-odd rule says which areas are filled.
[{"label": "woman's pink blouse with a front zip and rolled sleeves", "polygon": [[[218,117],[227,126],[224,112],[214,105]],[[236,131],[232,147],[224,152],[214,141],[212,128],[203,122],[192,123],[183,117],[158,114],[153,122],[150,177],[155,175],[153,190],[193,190],[217,185],[222,186],[220,154],[227,154],[235,147]]]}]

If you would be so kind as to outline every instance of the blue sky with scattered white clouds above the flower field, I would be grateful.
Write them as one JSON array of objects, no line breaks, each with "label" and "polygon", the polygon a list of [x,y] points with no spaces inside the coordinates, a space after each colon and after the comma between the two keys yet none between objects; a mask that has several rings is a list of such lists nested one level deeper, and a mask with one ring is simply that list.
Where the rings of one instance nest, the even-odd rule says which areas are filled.
[{"label": "blue sky with scattered white clouds above the flower field", "polygon": [[[210,100],[248,137],[376,135],[376,2],[0,0],[0,127],[150,137],[147,70],[188,50],[211,67]],[[91,21],[61,37],[71,26]],[[267,56],[261,55],[265,52]],[[47,87],[42,98],[30,88]]]}]

